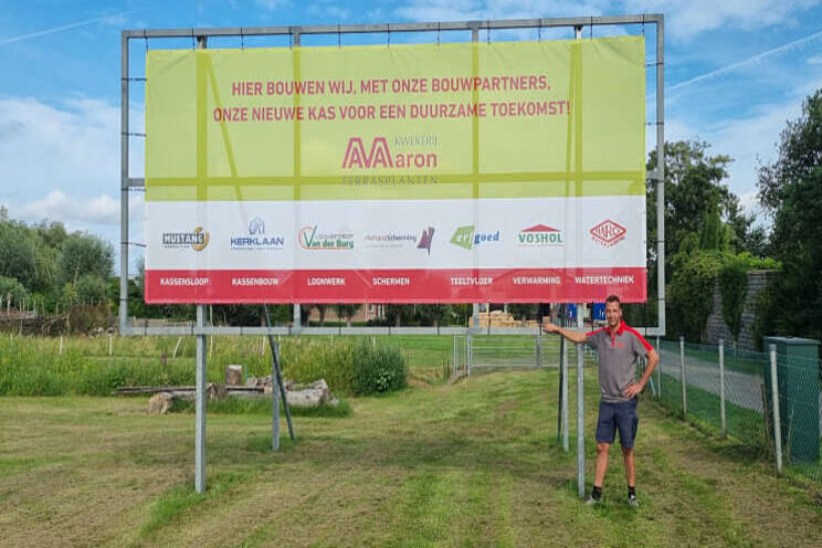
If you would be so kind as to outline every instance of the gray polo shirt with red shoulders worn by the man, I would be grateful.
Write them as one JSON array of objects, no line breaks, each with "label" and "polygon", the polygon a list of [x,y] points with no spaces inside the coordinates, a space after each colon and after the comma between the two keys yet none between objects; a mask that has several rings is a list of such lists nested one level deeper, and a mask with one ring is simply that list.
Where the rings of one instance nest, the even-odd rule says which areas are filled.
[{"label": "gray polo shirt with red shoulders worn by the man", "polygon": [[630,401],[622,392],[634,382],[636,357],[647,356],[651,345],[624,322],[613,336],[609,327],[603,327],[586,334],[586,340],[599,354],[602,401]]}]

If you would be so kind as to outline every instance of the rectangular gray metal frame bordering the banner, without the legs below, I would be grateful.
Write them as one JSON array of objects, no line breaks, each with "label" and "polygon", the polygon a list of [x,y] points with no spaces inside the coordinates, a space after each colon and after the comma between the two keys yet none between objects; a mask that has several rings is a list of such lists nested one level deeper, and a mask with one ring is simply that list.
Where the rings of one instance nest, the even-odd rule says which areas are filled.
[{"label": "rectangular gray metal frame bordering the banner, without the legs below", "polygon": [[[145,179],[134,178],[129,175],[129,140],[131,137],[145,137],[143,134],[129,131],[129,87],[133,82],[145,81],[145,78],[133,78],[129,73],[129,43],[133,40],[148,41],[149,39],[186,39],[197,41],[199,46],[204,48],[209,38],[228,38],[234,36],[244,39],[245,36],[289,36],[293,45],[299,45],[301,35],[303,34],[363,34],[363,33],[391,33],[401,32],[450,32],[450,31],[470,31],[473,42],[479,40],[481,31],[494,30],[515,30],[515,29],[556,29],[570,28],[581,30],[590,27],[602,25],[645,25],[653,24],[656,27],[656,59],[654,63],[646,66],[656,68],[656,119],[647,123],[656,127],[656,154],[657,158],[663,158],[664,138],[664,15],[662,14],[641,14],[623,17],[584,17],[584,18],[545,18],[545,19],[513,19],[497,21],[462,21],[462,22],[429,22],[429,23],[386,23],[386,24],[344,24],[344,25],[306,25],[306,27],[234,27],[234,28],[215,28],[215,29],[146,29],[146,30],[126,30],[120,36],[120,295],[119,295],[119,330],[122,335],[320,335],[327,333],[325,328],[303,327],[299,323],[298,306],[295,305],[294,325],[281,327],[260,327],[260,326],[235,326],[219,327],[212,325],[192,324],[187,327],[146,327],[129,325],[128,322],[128,247],[129,242],[129,192],[131,190],[141,190],[145,188]],[[581,32],[577,33],[581,38]],[[658,164],[658,162],[657,162]],[[657,219],[657,241],[656,256],[665,256],[665,223],[664,223],[664,165],[657,165],[656,170],[649,172],[646,179],[657,185],[656,193],[656,219]],[[645,326],[640,328],[647,336],[665,335],[665,264],[664,261],[657,261],[656,268],[656,287],[657,287],[657,323],[654,327]],[[198,305],[203,306],[203,305]],[[336,330],[335,330],[336,331]],[[477,308],[474,308],[474,320],[472,327],[452,328],[447,333],[479,333]],[[506,329],[505,333],[508,333]],[[520,329],[519,333],[531,333],[533,330]],[[436,327],[429,328],[342,328],[338,333],[344,335],[388,335],[403,333],[426,333],[444,334],[444,329]],[[482,333],[487,333],[482,329]],[[502,330],[492,329],[491,333],[502,334]]]}]

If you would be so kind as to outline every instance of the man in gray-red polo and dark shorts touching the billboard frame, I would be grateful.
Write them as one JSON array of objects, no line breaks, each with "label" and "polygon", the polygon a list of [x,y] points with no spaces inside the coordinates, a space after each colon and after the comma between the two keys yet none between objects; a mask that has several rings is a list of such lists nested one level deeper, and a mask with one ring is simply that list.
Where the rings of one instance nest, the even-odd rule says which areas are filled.
[{"label": "man in gray-red polo and dark shorts touching the billboard frame", "polygon": [[[622,457],[628,479],[628,503],[636,506],[636,476],[634,467],[634,439],[640,418],[636,414],[637,394],[645,388],[660,356],[635,329],[622,322],[620,298],[611,295],[605,299],[608,327],[582,334],[562,329],[554,324],[544,327],[546,333],[558,333],[571,342],[588,342],[599,352],[600,409],[597,420],[597,471],[593,489],[587,504],[599,503],[602,484],[608,471],[608,450],[620,432]],[[647,357],[647,367],[639,382],[634,382],[636,358]]]}]

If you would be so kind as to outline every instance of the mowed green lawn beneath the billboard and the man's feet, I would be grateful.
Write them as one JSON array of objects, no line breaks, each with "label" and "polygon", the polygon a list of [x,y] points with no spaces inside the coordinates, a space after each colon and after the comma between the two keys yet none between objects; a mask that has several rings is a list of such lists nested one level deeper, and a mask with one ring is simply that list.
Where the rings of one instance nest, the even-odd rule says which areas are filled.
[{"label": "mowed green lawn beneath the billboard and the man's feet", "polygon": [[[297,417],[295,443],[283,422],[277,454],[270,418],[210,414],[205,495],[193,414],[148,415],[146,398],[0,398],[0,545],[822,546],[819,485],[777,478],[651,402],[640,508],[623,502],[615,447],[592,508],[557,443],[556,370],[412,384],[348,400],[347,418]],[[570,386],[573,409],[573,373]]]}]

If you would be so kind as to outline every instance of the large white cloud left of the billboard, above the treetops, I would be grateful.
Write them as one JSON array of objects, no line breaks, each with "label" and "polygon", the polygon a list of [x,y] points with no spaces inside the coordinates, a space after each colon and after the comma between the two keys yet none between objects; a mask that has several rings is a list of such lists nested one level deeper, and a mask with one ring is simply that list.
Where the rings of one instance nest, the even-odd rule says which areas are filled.
[{"label": "large white cloud left of the billboard, above the treetops", "polygon": [[[131,130],[144,131],[143,105],[131,105]],[[120,109],[74,97],[49,105],[0,98],[0,201],[27,222],[62,222],[119,247]],[[143,139],[133,138],[133,177],[143,175]],[[59,189],[59,190],[57,190]],[[131,192],[131,241],[143,238],[143,194]],[[133,263],[134,264],[134,263]]]}]

